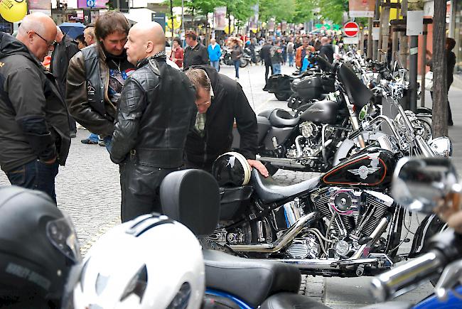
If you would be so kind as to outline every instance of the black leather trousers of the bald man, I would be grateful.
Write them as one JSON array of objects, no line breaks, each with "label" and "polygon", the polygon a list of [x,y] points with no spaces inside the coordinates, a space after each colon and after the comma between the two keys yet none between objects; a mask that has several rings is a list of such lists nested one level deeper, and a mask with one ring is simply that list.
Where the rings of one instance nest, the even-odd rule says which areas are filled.
[{"label": "black leather trousers of the bald man", "polygon": [[120,187],[122,189],[122,205],[120,217],[122,222],[146,215],[151,212],[162,212],[159,188],[163,178],[180,168],[155,168],[136,163],[127,158],[119,164]]}]

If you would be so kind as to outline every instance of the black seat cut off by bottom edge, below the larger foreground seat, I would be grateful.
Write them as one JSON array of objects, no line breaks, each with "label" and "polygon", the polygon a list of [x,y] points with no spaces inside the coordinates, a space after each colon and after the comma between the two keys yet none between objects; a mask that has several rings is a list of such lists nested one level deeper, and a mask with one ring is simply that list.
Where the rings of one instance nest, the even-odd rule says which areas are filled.
[{"label": "black seat cut off by bottom edge, below the larger foreground seat", "polygon": [[293,293],[279,293],[262,303],[260,309],[329,309],[316,300]]}]

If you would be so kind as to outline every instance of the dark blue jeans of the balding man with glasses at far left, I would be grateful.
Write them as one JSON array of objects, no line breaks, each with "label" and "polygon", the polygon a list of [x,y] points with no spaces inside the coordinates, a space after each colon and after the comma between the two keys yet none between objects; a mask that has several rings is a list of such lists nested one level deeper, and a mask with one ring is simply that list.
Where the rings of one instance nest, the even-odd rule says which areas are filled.
[{"label": "dark blue jeans of the balding man with glasses at far left", "polygon": [[58,168],[58,162],[46,164],[42,161],[34,160],[6,172],[6,176],[11,185],[43,191],[56,204],[55,177],[58,175]]}]

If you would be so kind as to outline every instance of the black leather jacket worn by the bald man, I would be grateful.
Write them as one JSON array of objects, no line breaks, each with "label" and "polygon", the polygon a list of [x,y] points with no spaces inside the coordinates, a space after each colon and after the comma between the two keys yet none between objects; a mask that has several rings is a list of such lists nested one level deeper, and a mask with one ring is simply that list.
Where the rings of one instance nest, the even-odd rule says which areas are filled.
[{"label": "black leather jacket worn by the bald man", "polygon": [[141,60],[119,99],[111,160],[121,163],[131,153],[145,166],[181,166],[194,100],[188,77],[167,65],[165,55]]}]

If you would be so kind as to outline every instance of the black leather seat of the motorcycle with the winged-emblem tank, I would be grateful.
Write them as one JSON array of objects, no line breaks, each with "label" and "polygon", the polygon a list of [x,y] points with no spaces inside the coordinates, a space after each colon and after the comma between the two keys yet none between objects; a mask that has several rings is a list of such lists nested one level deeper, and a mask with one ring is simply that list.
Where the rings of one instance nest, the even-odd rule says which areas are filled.
[{"label": "black leather seat of the motorcycle with the winged-emblem tank", "polygon": [[257,196],[265,203],[277,202],[284,200],[287,197],[294,196],[296,194],[316,188],[319,183],[320,177],[311,178],[295,185],[278,185],[274,179],[269,176],[264,178],[256,170],[252,170],[250,181],[254,187]]}]

